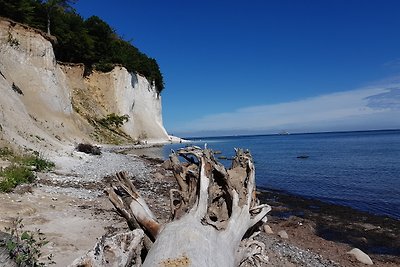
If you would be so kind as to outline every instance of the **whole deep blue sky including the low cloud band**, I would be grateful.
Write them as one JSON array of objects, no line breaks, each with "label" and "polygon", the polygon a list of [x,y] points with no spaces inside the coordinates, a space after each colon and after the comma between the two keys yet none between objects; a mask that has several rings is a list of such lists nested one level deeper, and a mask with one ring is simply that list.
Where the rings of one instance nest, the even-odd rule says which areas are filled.
[{"label": "whole deep blue sky including the low cloud band", "polygon": [[157,59],[181,136],[400,128],[400,1],[84,1]]}]

